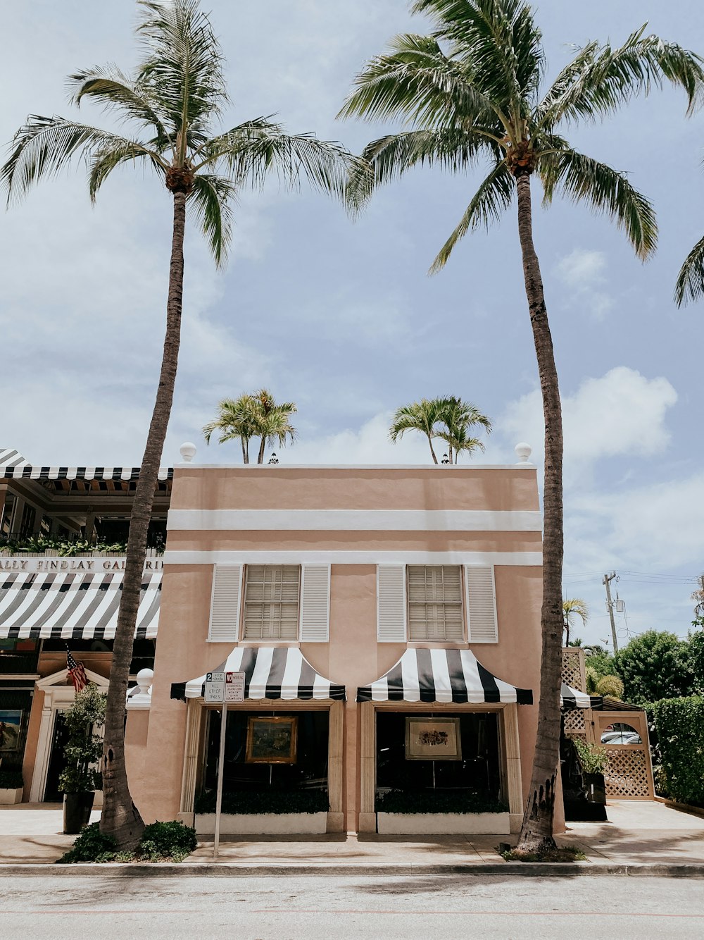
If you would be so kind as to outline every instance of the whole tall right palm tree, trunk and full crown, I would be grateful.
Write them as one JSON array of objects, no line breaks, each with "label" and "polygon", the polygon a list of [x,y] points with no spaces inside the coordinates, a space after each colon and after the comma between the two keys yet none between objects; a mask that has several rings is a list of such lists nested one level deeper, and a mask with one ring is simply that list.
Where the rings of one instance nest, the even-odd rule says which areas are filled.
[{"label": "whole tall right palm tree, trunk and full crown", "polygon": [[488,173],[440,249],[439,271],[469,230],[488,227],[517,202],[518,234],[528,313],[538,360],[545,424],[543,531],[543,650],[538,739],[519,846],[540,852],[552,838],[559,758],[562,646],[562,419],[558,374],[532,236],[530,180],[537,174],[543,202],[557,192],[585,201],[623,228],[639,258],[655,248],[656,226],[647,199],[625,174],[570,146],[563,127],[580,118],[605,118],[667,79],[684,88],[689,110],[701,93],[702,60],[680,46],[636,30],[622,46],[590,42],[543,90],[542,36],[524,0],[414,0],[428,14],[430,36],[399,36],[357,76],[341,116],[403,118],[410,125],[370,143],[368,180],[353,173],[360,207],[375,185],[398,179],[418,164],[464,171],[481,158]]}]

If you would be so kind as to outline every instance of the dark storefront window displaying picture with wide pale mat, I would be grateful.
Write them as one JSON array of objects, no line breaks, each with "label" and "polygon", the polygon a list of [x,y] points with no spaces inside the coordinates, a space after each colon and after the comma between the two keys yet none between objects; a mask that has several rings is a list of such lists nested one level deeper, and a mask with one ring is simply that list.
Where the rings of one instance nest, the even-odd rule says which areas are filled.
[{"label": "dark storefront window displaying picture with wide pale mat", "polygon": [[[412,734],[406,718],[413,722]],[[435,749],[437,759],[426,759]],[[497,713],[377,713],[376,792],[388,791],[467,794],[500,802]]]}]

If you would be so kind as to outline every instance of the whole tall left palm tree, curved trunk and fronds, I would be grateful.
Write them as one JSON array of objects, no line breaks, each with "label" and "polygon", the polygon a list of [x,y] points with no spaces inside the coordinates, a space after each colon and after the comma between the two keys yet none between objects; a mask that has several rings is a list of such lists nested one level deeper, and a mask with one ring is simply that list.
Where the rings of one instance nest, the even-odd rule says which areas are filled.
[{"label": "whole tall left palm tree, curved trunk and fronds", "polygon": [[114,111],[132,126],[134,135],[101,130],[72,118],[31,115],[15,134],[9,159],[0,170],[10,201],[79,158],[88,167],[88,189],[95,200],[115,167],[143,164],[156,172],[174,199],[161,375],[134,493],[105,720],[100,828],[115,836],[121,849],[132,848],[144,828],[125,770],[125,696],[146,530],[176,379],[186,211],[207,238],[216,264],[221,264],[230,239],[233,197],[240,187],[260,186],[273,172],[288,185],[306,180],[318,190],[343,196],[351,165],[339,146],[310,134],[288,135],[268,118],[218,130],[216,122],[228,103],[224,60],[198,0],[138,0],[138,4],[137,35],[143,55],[136,70],[128,75],[111,65],[69,76],[73,104],[88,99]]}]

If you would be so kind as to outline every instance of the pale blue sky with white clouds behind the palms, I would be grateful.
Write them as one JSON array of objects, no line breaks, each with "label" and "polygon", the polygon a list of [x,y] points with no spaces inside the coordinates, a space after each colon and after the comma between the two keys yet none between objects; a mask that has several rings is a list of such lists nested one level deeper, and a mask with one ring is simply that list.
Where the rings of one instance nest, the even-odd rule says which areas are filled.
[{"label": "pale blue sky with white clouds behind the palms", "polygon": [[[423,32],[404,0],[257,0],[204,5],[228,59],[228,124],[278,114],[359,150],[388,129],[339,122],[351,80],[397,32]],[[536,5],[555,74],[589,39],[650,30],[704,53],[699,5],[551,0]],[[28,113],[70,112],[71,71],[135,61],[131,0],[8,5],[0,104],[8,142]],[[84,119],[103,118],[89,107]],[[538,209],[535,240],[565,415],[565,594],[607,636],[604,572],[620,574],[620,641],[655,627],[685,634],[704,570],[702,305],[672,301],[681,260],[704,231],[704,114],[680,92],[634,102],[574,146],[630,174],[658,212],[643,265],[622,234],[583,207]],[[389,125],[389,128],[391,125]],[[183,347],[164,462],[193,440],[196,460],[236,462],[199,429],[217,401],[261,385],[298,402],[284,462],[426,462],[420,439],[386,441],[390,413],[455,394],[490,415],[482,462],[513,462],[527,440],[542,473],[542,420],[515,218],[470,235],[446,270],[427,269],[479,173],[419,170],[381,190],[356,223],[340,206],[272,185],[244,193],[229,264],[216,272],[191,231]],[[534,188],[534,202],[538,202]],[[39,463],[138,463],[161,357],[171,208],[157,180],[115,174],[92,209],[84,171],[42,183],[0,225],[4,260],[0,443]]]}]

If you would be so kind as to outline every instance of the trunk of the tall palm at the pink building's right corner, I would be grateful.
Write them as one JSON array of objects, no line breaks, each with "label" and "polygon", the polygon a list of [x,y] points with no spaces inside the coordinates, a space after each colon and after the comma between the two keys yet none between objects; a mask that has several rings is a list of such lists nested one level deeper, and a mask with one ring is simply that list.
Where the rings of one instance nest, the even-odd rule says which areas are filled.
[{"label": "trunk of the tall palm at the pink building's right corner", "polygon": [[518,848],[535,852],[554,847],[552,836],[559,761],[559,689],[562,674],[562,415],[558,371],[543,297],[538,256],[533,245],[530,171],[515,171],[518,192],[518,234],[523,255],[528,312],[538,359],[543,417],[545,466],[543,484],[543,609],[541,631],[541,694],[538,732],[530,791]]}]

